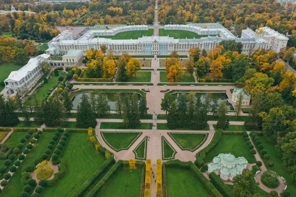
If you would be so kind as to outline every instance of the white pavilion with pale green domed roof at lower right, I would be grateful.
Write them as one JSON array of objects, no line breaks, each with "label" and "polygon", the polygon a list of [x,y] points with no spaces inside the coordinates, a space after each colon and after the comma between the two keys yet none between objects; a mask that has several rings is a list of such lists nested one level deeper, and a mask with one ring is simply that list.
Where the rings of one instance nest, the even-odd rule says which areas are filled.
[{"label": "white pavilion with pale green domed roof at lower right", "polygon": [[208,173],[215,172],[223,181],[232,181],[234,176],[242,174],[247,164],[244,157],[235,158],[230,153],[221,153],[213,159],[213,163],[208,164]]}]

